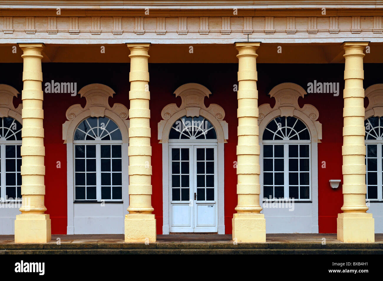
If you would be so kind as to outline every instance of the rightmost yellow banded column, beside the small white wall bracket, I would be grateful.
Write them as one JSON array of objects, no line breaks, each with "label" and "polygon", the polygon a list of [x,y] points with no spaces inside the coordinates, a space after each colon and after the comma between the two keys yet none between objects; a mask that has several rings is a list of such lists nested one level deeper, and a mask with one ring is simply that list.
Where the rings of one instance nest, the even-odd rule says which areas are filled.
[{"label": "rightmost yellow banded column, beside the small white wall bracket", "polygon": [[365,42],[343,44],[345,54],[343,108],[343,213],[337,218],[337,238],[342,242],[374,242],[374,219],[366,211],[364,144],[363,49]]}]

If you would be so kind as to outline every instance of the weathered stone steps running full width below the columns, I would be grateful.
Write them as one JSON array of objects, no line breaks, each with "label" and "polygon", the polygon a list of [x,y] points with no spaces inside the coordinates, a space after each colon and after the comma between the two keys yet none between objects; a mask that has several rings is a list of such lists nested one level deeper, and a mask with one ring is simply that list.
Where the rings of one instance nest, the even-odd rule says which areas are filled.
[{"label": "weathered stone steps running full width below the columns", "polygon": [[0,244],[1,254],[383,254],[381,243]]}]

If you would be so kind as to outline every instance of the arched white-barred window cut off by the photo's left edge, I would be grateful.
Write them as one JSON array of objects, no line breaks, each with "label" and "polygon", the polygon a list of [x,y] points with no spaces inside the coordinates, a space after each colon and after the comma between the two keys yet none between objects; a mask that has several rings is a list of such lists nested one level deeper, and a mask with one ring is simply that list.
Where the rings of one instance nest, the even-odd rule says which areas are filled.
[{"label": "arched white-barred window cut off by the photo's left edge", "polygon": [[21,124],[12,117],[0,118],[0,179],[3,200],[21,199]]}]

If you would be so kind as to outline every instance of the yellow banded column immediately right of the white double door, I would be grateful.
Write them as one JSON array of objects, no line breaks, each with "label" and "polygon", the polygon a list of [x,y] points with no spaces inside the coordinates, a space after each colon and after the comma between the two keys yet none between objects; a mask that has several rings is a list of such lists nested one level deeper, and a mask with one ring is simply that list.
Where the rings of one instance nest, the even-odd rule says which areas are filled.
[{"label": "yellow banded column immediately right of the white double door", "polygon": [[237,213],[232,219],[236,242],[266,242],[266,221],[259,205],[259,127],[257,54],[260,43],[236,43],[238,71]]}]

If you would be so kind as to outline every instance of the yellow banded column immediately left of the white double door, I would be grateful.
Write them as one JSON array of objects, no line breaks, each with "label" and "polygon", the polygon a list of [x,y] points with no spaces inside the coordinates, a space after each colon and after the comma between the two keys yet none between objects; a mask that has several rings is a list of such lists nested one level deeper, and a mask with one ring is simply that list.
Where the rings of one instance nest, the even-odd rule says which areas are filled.
[{"label": "yellow banded column immediately left of the white double door", "polygon": [[125,242],[155,242],[152,212],[152,147],[150,145],[149,43],[127,44],[130,50],[129,214]]}]

